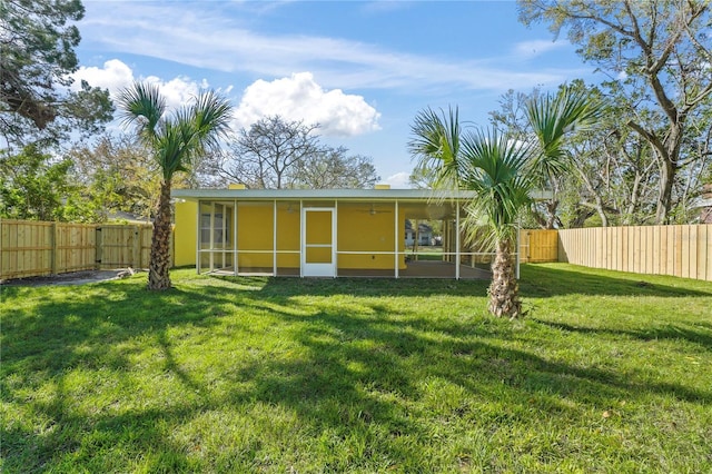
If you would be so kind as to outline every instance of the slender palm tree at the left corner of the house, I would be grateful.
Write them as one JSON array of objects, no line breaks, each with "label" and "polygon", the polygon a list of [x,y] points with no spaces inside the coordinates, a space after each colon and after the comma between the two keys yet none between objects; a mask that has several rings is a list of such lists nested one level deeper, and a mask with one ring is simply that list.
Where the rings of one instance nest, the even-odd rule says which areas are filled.
[{"label": "slender palm tree at the left corner of the house", "polygon": [[170,188],[174,175],[187,171],[192,159],[217,147],[229,129],[231,106],[214,91],[199,95],[194,103],[170,116],[158,87],[136,82],[119,96],[125,125],[136,132],[161,171],[160,197],[154,217],[154,235],[148,271],[148,288],[164,290],[170,283]]}]

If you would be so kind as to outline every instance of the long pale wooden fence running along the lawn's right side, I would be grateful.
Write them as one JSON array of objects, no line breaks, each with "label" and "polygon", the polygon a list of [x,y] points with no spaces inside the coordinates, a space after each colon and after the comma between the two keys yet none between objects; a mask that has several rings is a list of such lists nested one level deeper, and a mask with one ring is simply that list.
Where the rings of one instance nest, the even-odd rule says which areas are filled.
[{"label": "long pale wooden fence running along the lawn's right side", "polygon": [[712,280],[712,225],[560,230],[558,261]]}]

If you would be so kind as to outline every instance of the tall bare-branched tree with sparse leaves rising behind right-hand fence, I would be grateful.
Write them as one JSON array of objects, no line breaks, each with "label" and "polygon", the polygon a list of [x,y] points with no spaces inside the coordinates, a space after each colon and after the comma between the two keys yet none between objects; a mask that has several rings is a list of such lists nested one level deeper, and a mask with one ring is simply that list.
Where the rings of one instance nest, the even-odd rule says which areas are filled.
[{"label": "tall bare-branched tree with sparse leaves rising behind right-hand fence", "polygon": [[[629,101],[626,127],[653,150],[660,172],[655,220],[668,223],[676,175],[690,164],[689,118],[712,97],[710,2],[518,0],[518,6],[525,24],[542,21],[555,34],[565,29],[585,60],[636,96]],[[641,120],[642,115],[657,119]]]}]

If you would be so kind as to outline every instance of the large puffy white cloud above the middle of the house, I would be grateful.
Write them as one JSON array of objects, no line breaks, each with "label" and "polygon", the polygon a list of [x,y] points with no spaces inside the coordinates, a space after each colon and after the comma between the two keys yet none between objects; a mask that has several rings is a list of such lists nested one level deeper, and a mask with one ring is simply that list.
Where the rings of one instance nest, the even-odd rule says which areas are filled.
[{"label": "large puffy white cloud above the middle of the house", "polygon": [[319,124],[325,136],[356,136],[378,130],[380,113],[362,96],[325,90],[310,72],[293,73],[248,86],[236,111],[236,128],[247,128],[265,116]]}]

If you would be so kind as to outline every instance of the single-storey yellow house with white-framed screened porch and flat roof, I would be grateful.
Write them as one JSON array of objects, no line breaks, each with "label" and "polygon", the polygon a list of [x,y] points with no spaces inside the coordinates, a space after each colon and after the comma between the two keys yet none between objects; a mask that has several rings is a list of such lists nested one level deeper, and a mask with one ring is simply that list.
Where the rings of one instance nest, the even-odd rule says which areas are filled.
[{"label": "single-storey yellow house with white-framed screened porch and flat roof", "polygon": [[[175,264],[198,273],[490,278],[487,266],[476,265],[482,253],[464,248],[453,230],[468,191],[436,200],[431,190],[384,187],[176,189],[172,197]],[[439,259],[406,258],[407,220],[442,220],[451,229]]]}]

